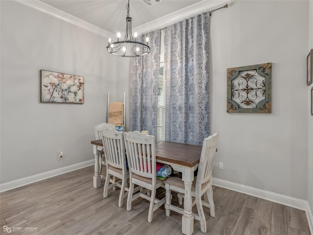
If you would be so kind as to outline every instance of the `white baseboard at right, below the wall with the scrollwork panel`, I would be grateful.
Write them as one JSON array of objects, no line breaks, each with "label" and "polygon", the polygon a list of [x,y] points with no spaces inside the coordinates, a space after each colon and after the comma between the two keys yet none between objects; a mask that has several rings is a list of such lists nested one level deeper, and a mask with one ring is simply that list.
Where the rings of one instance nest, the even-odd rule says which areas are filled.
[{"label": "white baseboard at right, below the wall with the scrollwork panel", "polygon": [[313,215],[308,201],[216,178],[213,178],[213,185],[306,211],[311,234],[313,235]]}]

